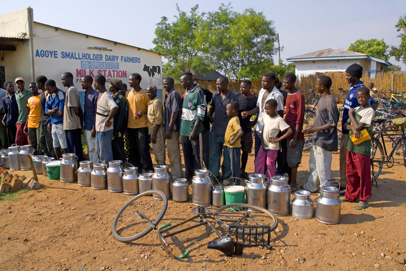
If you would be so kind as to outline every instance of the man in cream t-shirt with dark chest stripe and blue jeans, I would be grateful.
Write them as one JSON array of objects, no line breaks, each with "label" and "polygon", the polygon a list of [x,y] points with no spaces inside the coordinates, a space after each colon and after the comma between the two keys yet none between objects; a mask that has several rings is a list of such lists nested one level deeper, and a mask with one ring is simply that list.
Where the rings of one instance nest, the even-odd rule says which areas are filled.
[{"label": "man in cream t-shirt with dark chest stripe and blue jeans", "polygon": [[100,92],[96,106],[96,153],[101,163],[108,164],[113,160],[113,117],[118,106],[105,85],[106,78],[103,75],[94,77],[94,88]]}]

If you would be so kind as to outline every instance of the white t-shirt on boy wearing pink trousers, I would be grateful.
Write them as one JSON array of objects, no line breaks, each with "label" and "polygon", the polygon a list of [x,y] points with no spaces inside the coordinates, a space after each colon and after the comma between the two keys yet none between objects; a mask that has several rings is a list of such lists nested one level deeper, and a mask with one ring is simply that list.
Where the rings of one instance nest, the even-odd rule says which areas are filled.
[{"label": "white t-shirt on boy wearing pink trousers", "polygon": [[289,124],[278,114],[275,117],[270,117],[265,114],[264,118],[264,130],[262,133],[262,140],[264,141],[265,149],[267,150],[279,150],[279,142],[270,143],[270,137],[277,137],[280,131],[289,128]]}]

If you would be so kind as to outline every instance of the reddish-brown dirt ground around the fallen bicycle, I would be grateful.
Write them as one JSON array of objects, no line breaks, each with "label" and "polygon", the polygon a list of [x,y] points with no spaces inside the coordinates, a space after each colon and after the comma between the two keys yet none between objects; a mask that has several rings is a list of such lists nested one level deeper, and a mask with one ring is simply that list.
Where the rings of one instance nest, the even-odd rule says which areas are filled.
[{"label": "reddish-brown dirt ground around the fallen bicycle", "polygon": [[[299,184],[309,175],[309,154],[303,154]],[[339,176],[338,159],[334,154],[333,177]],[[247,172],[253,171],[250,156]],[[114,239],[113,219],[131,196],[40,175],[40,190],[20,194],[18,201],[0,202],[0,268],[79,270],[86,264],[83,270],[404,270],[399,261],[406,258],[405,176],[403,166],[384,168],[379,187],[372,188],[371,208],[354,210],[355,203],[342,203],[336,225],[278,217],[272,250],[245,248],[242,256],[226,256],[207,248],[217,235],[202,226],[168,238],[176,254],[190,250],[186,259],[175,260],[159,248],[154,232],[131,245]],[[191,201],[169,200],[161,223],[189,218],[193,207]]]}]

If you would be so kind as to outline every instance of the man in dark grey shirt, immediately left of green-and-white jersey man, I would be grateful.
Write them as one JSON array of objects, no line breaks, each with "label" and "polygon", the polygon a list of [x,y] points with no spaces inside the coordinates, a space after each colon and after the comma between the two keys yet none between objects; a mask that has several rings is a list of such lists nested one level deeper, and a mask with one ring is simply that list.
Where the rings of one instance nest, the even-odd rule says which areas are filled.
[{"label": "man in dark grey shirt, immediately left of green-and-white jersey man", "polygon": [[182,98],[173,87],[174,80],[167,77],[162,81],[162,88],[166,91],[163,111],[165,114],[166,149],[173,179],[183,178],[182,160],[179,150],[179,130],[182,109]]}]

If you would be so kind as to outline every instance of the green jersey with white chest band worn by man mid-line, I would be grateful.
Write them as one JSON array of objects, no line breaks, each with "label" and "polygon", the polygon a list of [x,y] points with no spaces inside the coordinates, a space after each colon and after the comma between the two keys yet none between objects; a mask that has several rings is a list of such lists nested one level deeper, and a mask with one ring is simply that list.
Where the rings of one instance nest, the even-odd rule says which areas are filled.
[{"label": "green jersey with white chest band worn by man mid-line", "polygon": [[182,104],[182,117],[180,118],[179,133],[181,137],[188,137],[190,135],[196,119],[201,120],[196,134],[203,131],[203,119],[205,118],[206,107],[205,95],[197,85],[192,90],[185,92]]}]

